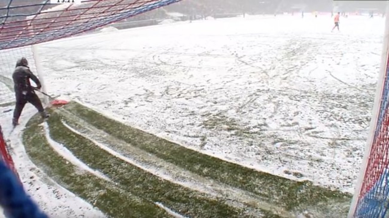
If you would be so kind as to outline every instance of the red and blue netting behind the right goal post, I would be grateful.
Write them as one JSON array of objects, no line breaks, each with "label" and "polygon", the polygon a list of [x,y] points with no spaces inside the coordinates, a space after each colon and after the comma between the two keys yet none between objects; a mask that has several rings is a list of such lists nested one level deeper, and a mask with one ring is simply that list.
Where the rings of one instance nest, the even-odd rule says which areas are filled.
[{"label": "red and blue netting behind the right goal post", "polygon": [[389,207],[389,59],[380,111],[354,213],[358,218],[386,217]]}]

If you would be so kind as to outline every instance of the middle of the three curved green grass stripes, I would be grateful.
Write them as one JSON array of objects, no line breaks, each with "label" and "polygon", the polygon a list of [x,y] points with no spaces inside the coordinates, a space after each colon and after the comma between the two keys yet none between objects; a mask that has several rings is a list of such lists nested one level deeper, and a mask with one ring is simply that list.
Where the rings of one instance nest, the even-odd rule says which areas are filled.
[{"label": "middle of the three curved green grass stripes", "polygon": [[243,217],[244,211],[229,206],[224,199],[211,197],[163,180],[137,166],[111,155],[92,141],[63,125],[66,119],[53,113],[47,121],[53,140],[65,145],[79,160],[126,187],[126,191],[190,217]]}]

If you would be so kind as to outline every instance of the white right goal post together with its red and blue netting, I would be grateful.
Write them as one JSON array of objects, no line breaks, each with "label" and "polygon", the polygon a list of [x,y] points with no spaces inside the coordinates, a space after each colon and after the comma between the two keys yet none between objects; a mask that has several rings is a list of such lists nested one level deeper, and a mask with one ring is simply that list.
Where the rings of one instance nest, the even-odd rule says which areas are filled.
[{"label": "white right goal post together with its red and blue netting", "polygon": [[[348,218],[387,217],[389,206],[389,2],[370,133]],[[386,216],[385,216],[386,215]]]}]

